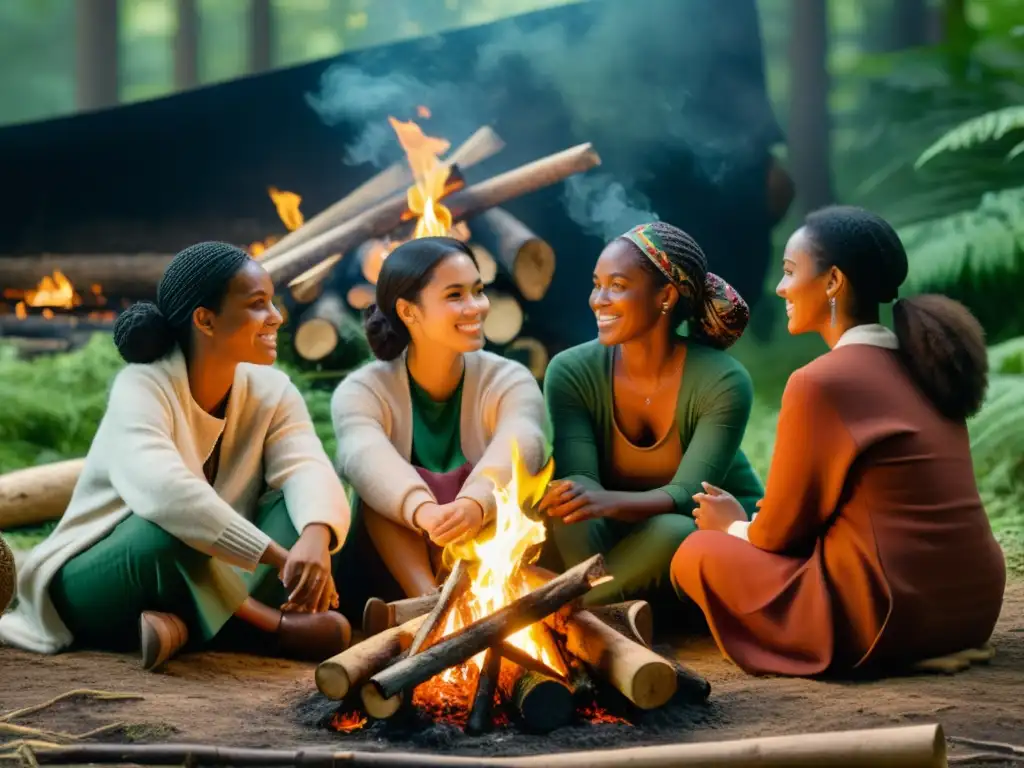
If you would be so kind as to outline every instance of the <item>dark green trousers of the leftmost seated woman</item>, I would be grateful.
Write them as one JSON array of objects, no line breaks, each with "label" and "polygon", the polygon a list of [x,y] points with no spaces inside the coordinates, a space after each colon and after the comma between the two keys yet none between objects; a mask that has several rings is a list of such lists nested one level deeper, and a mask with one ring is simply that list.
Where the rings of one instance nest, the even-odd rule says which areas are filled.
[{"label": "dark green trousers of the leftmost seated woman", "polygon": [[[254,522],[286,549],[298,541],[281,492],[264,498]],[[65,563],[50,583],[50,598],[76,644],[104,650],[138,646],[143,610],[177,614],[190,644],[206,644],[250,596],[274,607],[285,602],[272,566],[247,572],[134,514]]]}]

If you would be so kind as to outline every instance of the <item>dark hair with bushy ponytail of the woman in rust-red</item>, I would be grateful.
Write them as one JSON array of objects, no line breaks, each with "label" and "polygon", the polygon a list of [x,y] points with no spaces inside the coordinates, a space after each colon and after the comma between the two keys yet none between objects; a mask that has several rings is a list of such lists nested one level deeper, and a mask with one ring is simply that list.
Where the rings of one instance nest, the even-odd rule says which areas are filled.
[{"label": "dark hair with bushy ponytail of the woman in rust-red", "polygon": [[884,218],[855,206],[829,206],[804,221],[820,269],[837,267],[853,292],[855,318],[877,322],[893,305],[893,330],[907,372],[935,408],[961,421],[976,413],[988,386],[981,324],[945,296],[896,299],[906,280],[906,249]]}]

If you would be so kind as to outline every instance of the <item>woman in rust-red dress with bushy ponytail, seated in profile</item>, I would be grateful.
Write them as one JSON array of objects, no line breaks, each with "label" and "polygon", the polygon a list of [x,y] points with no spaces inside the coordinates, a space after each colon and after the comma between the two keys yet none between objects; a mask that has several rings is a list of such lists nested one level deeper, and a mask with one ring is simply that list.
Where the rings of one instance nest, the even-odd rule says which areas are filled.
[{"label": "woman in rust-red dress with bushy ponytail, seated in profile", "polygon": [[790,333],[830,351],[790,378],[754,520],[709,484],[694,497],[677,589],[749,673],[878,674],[984,644],[1006,565],[965,424],[987,383],[980,326],[941,296],[880,325],[906,252],[862,209],[808,216],[782,268]]}]

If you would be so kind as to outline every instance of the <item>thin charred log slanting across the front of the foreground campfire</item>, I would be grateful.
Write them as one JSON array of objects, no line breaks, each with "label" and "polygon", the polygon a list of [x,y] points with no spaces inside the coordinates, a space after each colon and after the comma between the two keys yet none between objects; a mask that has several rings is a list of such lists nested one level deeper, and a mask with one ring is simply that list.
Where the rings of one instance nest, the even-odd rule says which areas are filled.
[{"label": "thin charred log slanting across the front of the foreground campfire", "polygon": [[494,613],[441,638],[422,653],[407,656],[377,673],[370,679],[370,685],[383,697],[419,685],[541,621],[605,580],[604,559],[595,555]]}]

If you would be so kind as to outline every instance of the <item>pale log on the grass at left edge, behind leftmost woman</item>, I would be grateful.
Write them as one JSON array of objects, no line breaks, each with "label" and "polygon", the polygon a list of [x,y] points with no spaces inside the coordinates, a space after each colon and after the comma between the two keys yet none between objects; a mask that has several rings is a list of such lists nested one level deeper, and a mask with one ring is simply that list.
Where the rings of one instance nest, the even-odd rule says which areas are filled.
[{"label": "pale log on the grass at left edge, behind leftmost woman", "polygon": [[72,459],[0,475],[0,530],[60,519],[84,465]]}]

